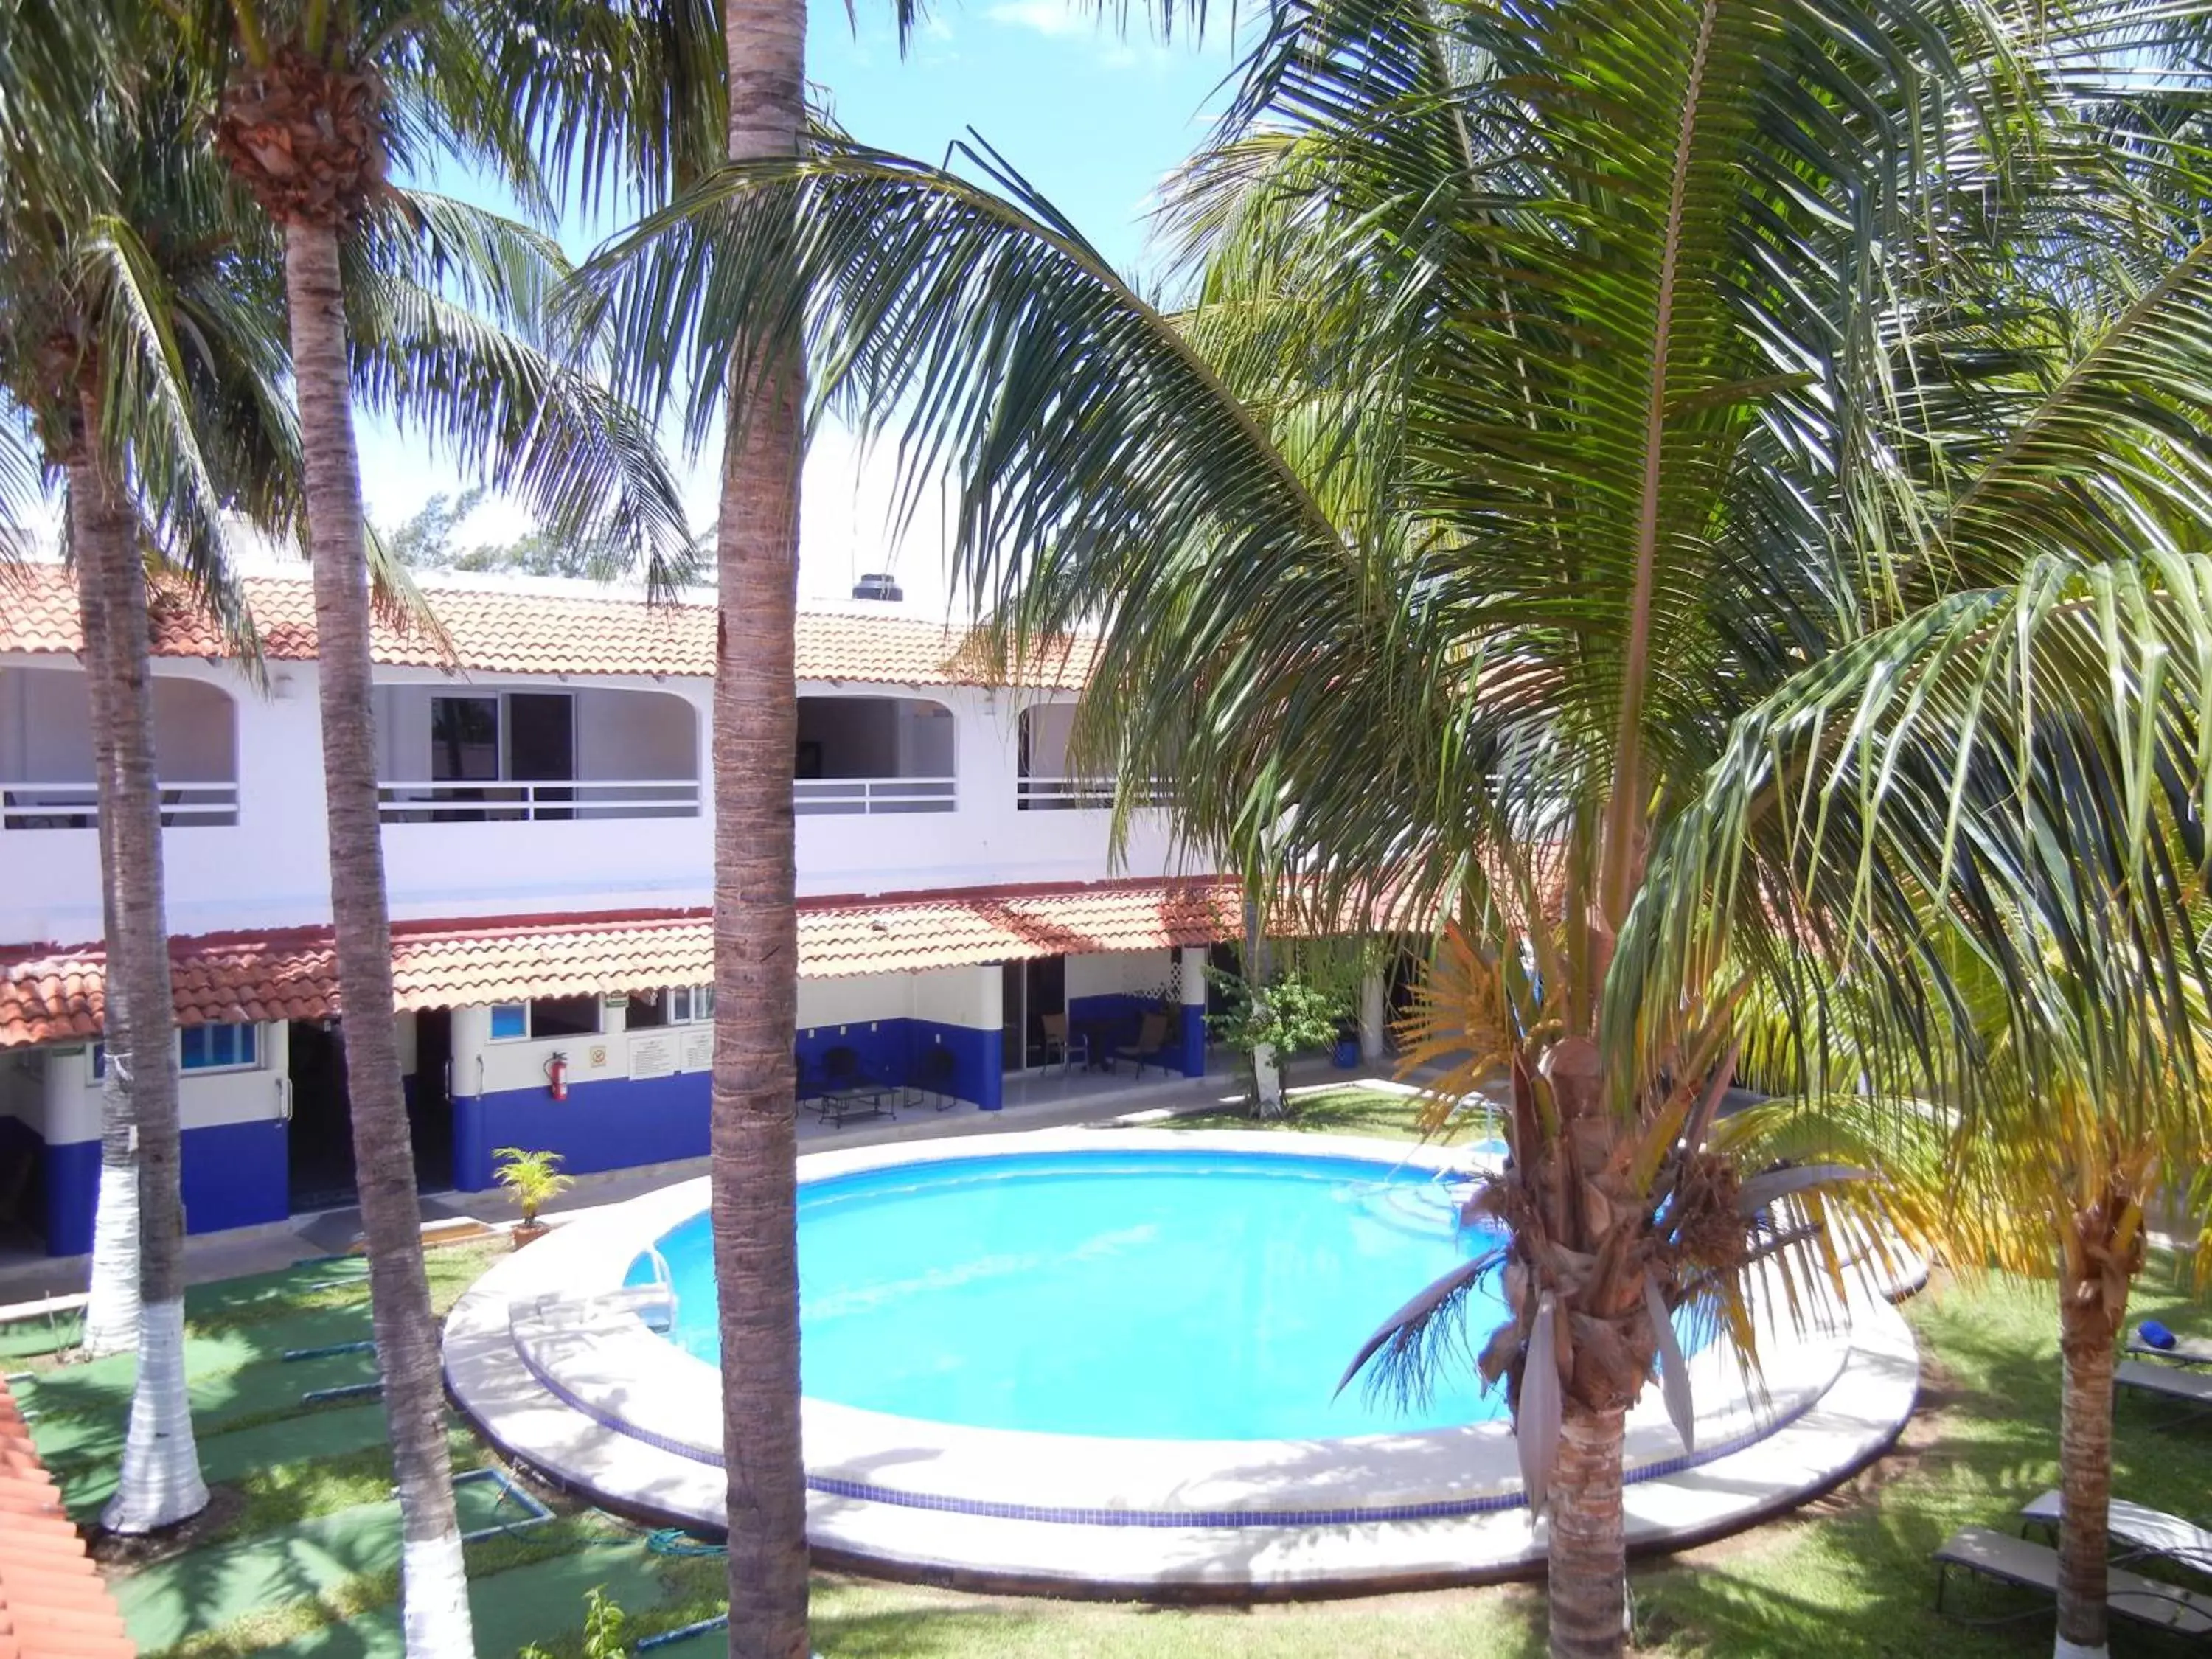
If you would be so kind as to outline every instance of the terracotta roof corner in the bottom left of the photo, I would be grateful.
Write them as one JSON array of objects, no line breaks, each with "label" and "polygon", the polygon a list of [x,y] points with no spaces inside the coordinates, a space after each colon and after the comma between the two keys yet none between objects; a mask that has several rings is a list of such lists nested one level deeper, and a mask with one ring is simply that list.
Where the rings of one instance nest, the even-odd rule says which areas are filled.
[{"label": "terracotta roof corner in the bottom left of the photo", "polygon": [[124,1615],[0,1383],[0,1659],[133,1659]]}]

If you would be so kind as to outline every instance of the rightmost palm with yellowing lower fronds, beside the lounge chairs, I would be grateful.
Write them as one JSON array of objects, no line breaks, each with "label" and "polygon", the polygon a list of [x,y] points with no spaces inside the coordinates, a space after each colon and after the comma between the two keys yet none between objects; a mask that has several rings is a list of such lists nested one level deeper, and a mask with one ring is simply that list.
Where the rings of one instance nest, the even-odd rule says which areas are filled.
[{"label": "rightmost palm with yellowing lower fronds, beside the lounge chairs", "polygon": [[[2132,374],[2095,374],[2101,385],[2077,389],[2073,407],[2046,409],[2057,429],[2051,442],[2064,445],[2068,427],[2117,418],[2126,380],[2146,385],[2141,372],[2159,354],[2201,349],[2185,347],[2188,336],[2208,338],[2194,314],[2201,303],[2194,294],[2170,316],[2139,323],[2135,341],[2108,334],[2101,347],[2112,356],[2150,356]],[[1929,768],[1891,785],[1898,818],[1918,821],[1931,843],[1944,821],[1938,814],[1958,812],[1958,803],[1966,805],[1964,818],[1980,823],[2015,818],[2017,830],[1989,836],[1986,852],[1922,865],[1949,872],[1951,891],[1922,887],[1913,902],[1922,911],[1984,909],[1984,858],[2002,858],[2015,898],[2026,898],[2013,914],[1984,914],[1971,927],[1975,938],[2013,933],[2006,949],[1953,953],[1947,962],[1944,987],[1984,1042],[1966,1086],[1955,1091],[1944,1234],[1964,1265],[2053,1279],[2057,1287],[2059,1659],[2106,1650],[2112,1349],[2148,1232],[2161,1210],[2197,1225],[2212,1217],[2203,956],[2212,894],[2203,807],[2190,799],[2201,796],[2205,779],[2192,754],[2172,750],[2203,732],[2208,686],[2201,666],[2172,681],[2157,668],[2168,653],[2203,650],[2208,591],[2212,566],[2203,557],[2090,568],[2042,560],[2011,595],[1973,593],[1931,606],[1918,619],[1924,648],[1893,657],[1887,686],[1832,688],[1747,721],[1739,750],[1714,770],[1708,799],[1681,821],[1668,849],[1672,869],[1659,878],[1725,885],[1750,858],[1781,852],[1770,843],[1747,854],[1745,841],[1770,836],[1798,836],[1805,849],[1794,858],[1823,856],[1823,825],[1792,823],[1787,812],[1743,814],[1743,805],[1752,792],[1787,792],[1820,772],[1829,774],[1818,783],[1823,796],[1863,787],[1867,761],[1840,757],[1834,737],[1809,732],[1836,714],[1880,745],[1922,719],[1907,710],[1947,710],[1933,726],[1953,741],[1947,752],[1927,752],[1944,772]],[[2150,672],[2141,672],[2146,666]],[[1978,703],[2002,703],[2013,714],[1971,726],[1958,719],[1955,710]],[[2053,719],[2051,708],[2066,708],[2066,719]],[[2022,719],[2022,710],[2039,719]],[[1783,737],[1778,723],[1798,730]],[[1754,759],[1761,748],[1772,759]],[[1752,783],[1754,768],[1772,774]],[[1717,818],[1741,816],[1754,816],[1750,836],[1717,834]],[[1825,856],[1845,863],[1849,852],[1843,845]],[[1907,880],[1920,885],[1924,874]],[[1756,938],[1765,927],[1765,918],[1741,909],[1723,914],[1694,949],[1728,933]],[[1657,947],[1661,973],[1674,949],[1681,945]],[[1765,953],[1770,940],[1752,949]],[[2039,958],[2051,971],[2020,975],[2015,956]]]}]

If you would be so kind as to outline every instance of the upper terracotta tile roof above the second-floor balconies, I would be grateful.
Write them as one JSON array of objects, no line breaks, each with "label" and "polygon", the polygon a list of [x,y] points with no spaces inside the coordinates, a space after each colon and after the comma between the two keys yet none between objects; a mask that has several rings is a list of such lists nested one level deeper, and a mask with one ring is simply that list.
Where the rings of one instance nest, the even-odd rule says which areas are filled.
[{"label": "upper terracotta tile roof above the second-floor balconies", "polygon": [[[314,659],[314,593],[305,577],[246,577],[246,602],[272,661]],[[714,608],[648,606],[586,593],[502,586],[425,586],[445,628],[400,633],[376,626],[376,661],[396,668],[460,668],[487,675],[677,675],[714,672]],[[58,564],[0,571],[0,653],[73,655],[77,595]],[[799,613],[799,677],[876,686],[991,686],[987,653],[960,628],[911,615]],[[221,637],[184,593],[155,595],[157,657],[221,657]],[[1026,664],[1029,686],[1079,690],[1088,646]]]}]

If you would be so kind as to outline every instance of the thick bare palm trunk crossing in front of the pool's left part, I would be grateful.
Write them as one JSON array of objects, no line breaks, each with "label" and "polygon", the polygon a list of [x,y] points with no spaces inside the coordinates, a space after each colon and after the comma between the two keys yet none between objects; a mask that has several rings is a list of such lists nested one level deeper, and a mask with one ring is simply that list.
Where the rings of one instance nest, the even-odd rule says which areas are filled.
[{"label": "thick bare palm trunk crossing in front of the pool's left part", "polygon": [[[728,0],[730,159],[799,153],[803,0]],[[714,646],[714,1276],[730,1513],[730,1652],[805,1659],[799,1444],[799,1024],[792,754],[799,743],[799,338],[730,387]],[[748,396],[750,394],[750,396]]]}]

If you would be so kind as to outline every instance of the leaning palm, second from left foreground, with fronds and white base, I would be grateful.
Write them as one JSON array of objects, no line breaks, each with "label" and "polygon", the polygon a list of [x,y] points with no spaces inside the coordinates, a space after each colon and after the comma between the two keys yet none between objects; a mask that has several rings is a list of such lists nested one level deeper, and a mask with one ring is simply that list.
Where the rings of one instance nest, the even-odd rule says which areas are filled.
[{"label": "leaning palm, second from left foreground, with fronds and white base", "polygon": [[650,133],[617,126],[628,60],[608,55],[613,42],[644,58],[635,22],[633,9],[560,0],[228,0],[177,18],[186,51],[223,84],[215,144],[283,239],[347,1095],[403,1509],[409,1655],[465,1655],[473,1637],[392,1002],[352,405],[363,396],[398,411],[495,487],[522,491],[555,533],[591,529],[646,555],[657,588],[670,584],[688,538],[650,434],[529,343],[540,301],[564,274],[557,250],[387,177],[442,146],[491,161],[524,204],[544,208],[538,153],[564,166],[582,153],[597,166],[611,133],[644,146]]}]

